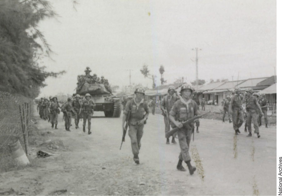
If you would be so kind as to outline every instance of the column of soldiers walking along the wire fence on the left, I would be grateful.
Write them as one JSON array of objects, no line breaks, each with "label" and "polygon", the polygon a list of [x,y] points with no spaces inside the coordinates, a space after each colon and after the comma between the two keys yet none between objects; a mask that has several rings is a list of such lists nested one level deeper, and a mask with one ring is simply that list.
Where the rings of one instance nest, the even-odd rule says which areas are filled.
[{"label": "column of soldiers walking along the wire fence on the left", "polygon": [[72,117],[75,119],[75,128],[78,127],[79,119],[83,119],[83,132],[85,132],[86,121],[88,121],[88,134],[91,134],[91,117],[95,107],[95,103],[90,99],[91,95],[87,93],[85,96],[79,94],[74,97],[69,97],[65,103],[58,102],[57,97],[41,98],[37,106],[40,118],[48,120],[51,127],[55,129],[58,125],[58,114],[63,112],[63,119],[65,121],[66,131],[71,131]]}]

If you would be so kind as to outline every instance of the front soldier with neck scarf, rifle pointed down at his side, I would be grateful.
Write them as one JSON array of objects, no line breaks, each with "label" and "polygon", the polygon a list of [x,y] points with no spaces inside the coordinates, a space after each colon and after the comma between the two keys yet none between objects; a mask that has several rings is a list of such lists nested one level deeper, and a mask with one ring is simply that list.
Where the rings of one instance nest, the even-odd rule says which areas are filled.
[{"label": "front soldier with neck scarf, rifle pointed down at his side", "polygon": [[123,112],[122,126],[125,128],[125,120],[130,110],[128,135],[131,140],[133,160],[136,164],[139,164],[138,154],[141,148],[141,138],[143,136],[144,123],[149,116],[149,109],[148,103],[144,100],[144,89],[137,88],[134,93],[136,97],[126,103],[125,110]]}]

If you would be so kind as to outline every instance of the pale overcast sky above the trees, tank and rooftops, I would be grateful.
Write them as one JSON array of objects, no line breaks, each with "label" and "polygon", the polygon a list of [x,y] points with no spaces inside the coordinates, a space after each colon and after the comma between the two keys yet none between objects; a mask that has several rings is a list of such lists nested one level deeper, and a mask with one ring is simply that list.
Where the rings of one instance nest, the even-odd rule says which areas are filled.
[{"label": "pale overcast sky above the trees, tank and rooftops", "polygon": [[50,0],[59,17],[39,24],[54,52],[41,62],[47,71],[65,70],[47,78],[41,96],[75,93],[77,75],[91,74],[120,87],[152,80],[140,69],[148,65],[160,85],[184,77],[232,80],[268,77],[276,66],[276,1],[185,0],[119,1]]}]

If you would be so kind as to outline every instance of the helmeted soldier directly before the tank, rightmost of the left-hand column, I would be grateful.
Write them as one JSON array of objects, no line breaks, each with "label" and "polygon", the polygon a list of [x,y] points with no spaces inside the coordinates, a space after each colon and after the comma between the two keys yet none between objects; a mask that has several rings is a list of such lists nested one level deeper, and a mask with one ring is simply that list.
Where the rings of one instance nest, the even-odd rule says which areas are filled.
[{"label": "helmeted soldier directly before the tank, rightmost of the left-hand column", "polygon": [[85,100],[82,102],[82,112],[83,112],[83,132],[85,132],[86,120],[88,121],[88,135],[92,132],[91,129],[91,117],[93,114],[93,109],[95,108],[95,103],[90,99],[91,95],[86,93]]}]

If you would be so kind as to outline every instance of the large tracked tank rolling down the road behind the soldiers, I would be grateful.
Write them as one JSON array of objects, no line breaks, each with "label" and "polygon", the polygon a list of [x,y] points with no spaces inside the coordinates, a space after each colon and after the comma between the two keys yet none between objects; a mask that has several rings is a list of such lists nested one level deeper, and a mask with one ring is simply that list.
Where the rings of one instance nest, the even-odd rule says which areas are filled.
[{"label": "large tracked tank rolling down the road behind the soldiers", "polygon": [[108,84],[93,81],[95,79],[93,80],[89,75],[78,77],[76,93],[79,95],[89,93],[96,104],[94,111],[103,111],[106,117],[120,117],[122,110],[121,98],[113,96]]}]

